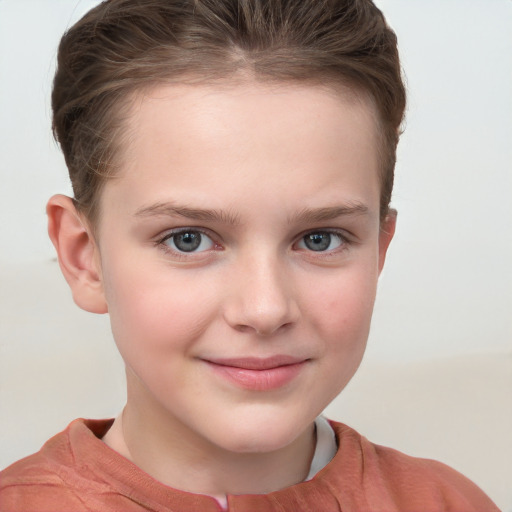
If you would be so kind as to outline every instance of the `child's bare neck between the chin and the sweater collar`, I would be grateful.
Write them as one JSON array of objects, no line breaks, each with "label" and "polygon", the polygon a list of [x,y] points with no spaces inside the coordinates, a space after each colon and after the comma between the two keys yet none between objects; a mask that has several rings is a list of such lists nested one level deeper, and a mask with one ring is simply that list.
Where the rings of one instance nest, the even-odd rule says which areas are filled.
[{"label": "child's bare neck between the chin and the sweater collar", "polygon": [[[104,441],[159,482],[206,494],[267,494],[302,482],[315,449],[314,424],[271,452],[225,450],[191,432],[175,417],[128,403]],[[183,468],[187,470],[184,471]]]}]

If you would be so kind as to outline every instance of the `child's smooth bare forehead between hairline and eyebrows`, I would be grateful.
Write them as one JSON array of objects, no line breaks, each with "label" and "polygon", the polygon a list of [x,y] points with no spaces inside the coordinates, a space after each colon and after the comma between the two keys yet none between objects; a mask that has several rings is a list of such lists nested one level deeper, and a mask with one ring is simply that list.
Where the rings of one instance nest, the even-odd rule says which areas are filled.
[{"label": "child's smooth bare forehead between hairline and eyebrows", "polygon": [[161,85],[139,93],[128,114],[120,176],[107,188],[144,189],[154,201],[187,189],[214,203],[266,183],[284,203],[339,189],[345,174],[370,182],[378,202],[377,115],[355,94],[282,84]]}]

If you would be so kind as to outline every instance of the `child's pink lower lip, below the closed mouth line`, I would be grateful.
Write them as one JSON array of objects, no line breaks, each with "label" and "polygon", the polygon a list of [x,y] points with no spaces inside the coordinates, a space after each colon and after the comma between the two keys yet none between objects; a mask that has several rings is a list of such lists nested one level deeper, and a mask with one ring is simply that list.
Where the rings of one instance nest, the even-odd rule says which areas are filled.
[{"label": "child's pink lower lip, below the closed mouth line", "polygon": [[291,382],[301,372],[306,362],[266,370],[249,370],[210,362],[208,364],[217,375],[241,388],[252,391],[271,391],[282,388]]}]

